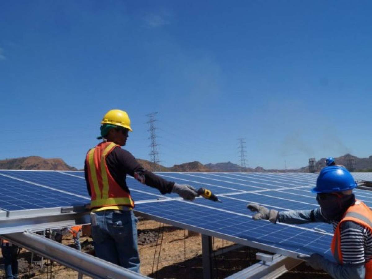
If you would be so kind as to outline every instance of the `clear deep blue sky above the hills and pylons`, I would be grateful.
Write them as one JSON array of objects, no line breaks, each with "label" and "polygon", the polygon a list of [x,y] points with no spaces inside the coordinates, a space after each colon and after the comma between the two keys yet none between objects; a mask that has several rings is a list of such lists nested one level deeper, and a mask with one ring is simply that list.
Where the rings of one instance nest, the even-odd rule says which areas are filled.
[{"label": "clear deep blue sky above the hills and pylons", "polygon": [[161,163],[372,155],[368,1],[1,1],[0,159],[82,168],[106,111]]}]

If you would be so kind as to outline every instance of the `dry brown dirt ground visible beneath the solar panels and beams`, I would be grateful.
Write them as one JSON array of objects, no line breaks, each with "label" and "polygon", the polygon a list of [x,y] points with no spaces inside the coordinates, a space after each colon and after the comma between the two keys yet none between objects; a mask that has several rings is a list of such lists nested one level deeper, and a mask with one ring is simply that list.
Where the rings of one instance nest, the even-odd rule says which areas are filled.
[{"label": "dry brown dirt ground visible beneath the solar panels and beams", "polygon": [[[65,236],[63,244],[74,247],[71,236]],[[86,253],[94,254],[90,237],[81,237],[82,249]],[[151,278],[202,278],[202,246],[199,234],[192,234],[186,230],[160,224],[150,220],[140,220],[138,223],[138,248],[141,259],[141,273]],[[220,251],[233,245],[230,241],[214,238],[213,250]],[[257,250],[243,247],[231,252],[212,257],[212,277],[225,278],[241,269],[256,263]],[[33,279],[75,279],[78,274],[74,270],[61,266],[56,262],[44,259],[44,266],[30,265],[31,252],[22,249],[19,255],[20,278]],[[1,257],[0,266],[3,267]],[[0,276],[4,275],[3,269]],[[281,279],[310,279],[331,278],[325,272],[313,270],[301,264],[291,270]],[[84,276],[84,279],[90,278]]]}]

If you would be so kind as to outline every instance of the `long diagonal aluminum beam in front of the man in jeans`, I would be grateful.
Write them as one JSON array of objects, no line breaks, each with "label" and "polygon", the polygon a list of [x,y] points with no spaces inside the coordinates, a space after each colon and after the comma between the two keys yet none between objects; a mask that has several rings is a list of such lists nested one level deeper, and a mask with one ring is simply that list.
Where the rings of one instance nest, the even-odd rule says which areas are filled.
[{"label": "long diagonal aluminum beam in front of the man in jeans", "polygon": [[113,263],[80,252],[57,241],[47,239],[38,234],[24,233],[5,234],[2,238],[24,247],[34,253],[48,257],[61,265],[97,279],[143,279],[148,278],[139,273],[125,269]]}]

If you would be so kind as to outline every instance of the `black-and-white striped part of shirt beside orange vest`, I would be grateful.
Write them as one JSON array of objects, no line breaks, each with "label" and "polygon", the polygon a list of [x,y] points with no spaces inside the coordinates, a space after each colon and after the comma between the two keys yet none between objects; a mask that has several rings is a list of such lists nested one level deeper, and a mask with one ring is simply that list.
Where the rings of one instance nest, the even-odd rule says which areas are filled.
[{"label": "black-and-white striped part of shirt beside orange vest", "polygon": [[[333,231],[339,222],[332,222]],[[353,265],[369,262],[372,258],[372,233],[367,227],[345,221],[340,228],[341,253],[344,263]]]}]

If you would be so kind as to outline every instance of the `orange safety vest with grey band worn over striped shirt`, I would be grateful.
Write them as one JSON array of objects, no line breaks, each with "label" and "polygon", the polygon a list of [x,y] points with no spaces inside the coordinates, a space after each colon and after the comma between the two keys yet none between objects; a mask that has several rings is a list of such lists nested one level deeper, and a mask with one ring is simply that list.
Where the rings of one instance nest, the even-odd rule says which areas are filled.
[{"label": "orange safety vest with grey band worn over striped shirt", "polygon": [[[339,264],[343,264],[342,253],[341,253],[341,230],[340,225],[346,221],[353,221],[360,226],[367,227],[369,231],[372,232],[372,211],[371,209],[362,201],[356,200],[355,204],[350,206],[340,223],[337,225],[336,230],[334,231],[331,251]],[[372,260],[365,263],[366,275],[365,279],[372,279]]]}]

